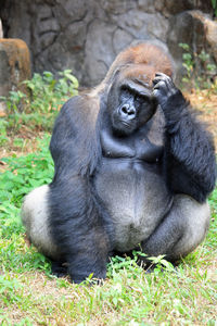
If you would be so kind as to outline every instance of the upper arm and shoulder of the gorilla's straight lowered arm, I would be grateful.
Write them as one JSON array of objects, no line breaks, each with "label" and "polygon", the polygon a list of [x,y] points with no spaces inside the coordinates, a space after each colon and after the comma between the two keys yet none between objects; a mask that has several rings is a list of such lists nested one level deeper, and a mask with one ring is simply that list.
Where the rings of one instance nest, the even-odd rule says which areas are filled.
[{"label": "upper arm and shoulder of the gorilla's straight lowered arm", "polygon": [[94,171],[99,158],[95,135],[98,105],[93,99],[77,96],[61,109],[50,143],[54,180],[67,174],[84,176]]}]

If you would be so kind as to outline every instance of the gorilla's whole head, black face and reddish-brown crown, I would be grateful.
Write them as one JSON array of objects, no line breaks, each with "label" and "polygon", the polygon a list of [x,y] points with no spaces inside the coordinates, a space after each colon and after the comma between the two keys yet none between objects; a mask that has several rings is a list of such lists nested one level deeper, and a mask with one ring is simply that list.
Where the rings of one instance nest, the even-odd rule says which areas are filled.
[{"label": "gorilla's whole head, black face and reddish-brown crown", "polygon": [[171,58],[159,46],[139,42],[120,52],[105,79],[106,110],[114,133],[129,136],[156,111],[152,80],[157,72],[174,75]]}]

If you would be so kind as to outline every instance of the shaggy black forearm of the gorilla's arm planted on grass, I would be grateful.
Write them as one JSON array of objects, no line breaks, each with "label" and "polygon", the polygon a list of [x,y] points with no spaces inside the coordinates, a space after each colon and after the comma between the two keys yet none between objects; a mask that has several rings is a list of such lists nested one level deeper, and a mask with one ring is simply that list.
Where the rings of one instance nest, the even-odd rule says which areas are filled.
[{"label": "shaggy black forearm of the gorilla's arm planted on grass", "polygon": [[52,183],[49,202],[53,203],[50,205],[50,231],[55,243],[61,243],[71,278],[80,283],[93,271],[93,277],[104,278],[110,231],[105,231],[106,222],[102,221],[88,180],[68,176],[62,183]]}]

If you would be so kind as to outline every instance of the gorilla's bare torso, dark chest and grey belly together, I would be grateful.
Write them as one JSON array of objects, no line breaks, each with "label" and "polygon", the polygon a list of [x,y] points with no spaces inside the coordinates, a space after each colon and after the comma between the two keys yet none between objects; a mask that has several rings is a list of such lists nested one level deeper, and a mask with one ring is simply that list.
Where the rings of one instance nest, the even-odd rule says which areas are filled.
[{"label": "gorilla's bare torso, dark chest and grey belly together", "polygon": [[129,137],[101,131],[103,159],[94,188],[114,225],[115,249],[128,251],[145,240],[170,208],[162,177],[164,121],[159,110]]}]

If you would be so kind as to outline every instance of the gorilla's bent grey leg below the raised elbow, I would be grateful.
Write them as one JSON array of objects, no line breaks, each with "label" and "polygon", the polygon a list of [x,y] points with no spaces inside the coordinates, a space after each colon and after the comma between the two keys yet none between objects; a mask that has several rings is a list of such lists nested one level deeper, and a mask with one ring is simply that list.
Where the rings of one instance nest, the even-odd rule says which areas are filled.
[{"label": "gorilla's bent grey leg below the raised elbow", "polygon": [[177,195],[169,213],[141,243],[143,252],[149,256],[166,254],[171,262],[179,260],[202,242],[209,216],[207,203],[201,204],[188,196]]}]

